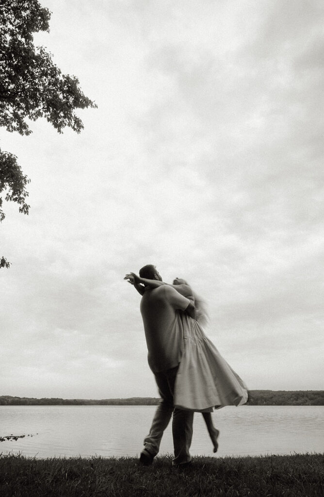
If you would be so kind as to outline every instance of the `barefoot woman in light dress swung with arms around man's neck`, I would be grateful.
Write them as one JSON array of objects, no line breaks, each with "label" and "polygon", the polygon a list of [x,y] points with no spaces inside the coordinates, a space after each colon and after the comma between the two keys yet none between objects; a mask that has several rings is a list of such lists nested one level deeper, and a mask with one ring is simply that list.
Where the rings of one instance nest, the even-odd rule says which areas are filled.
[{"label": "barefoot woman in light dress swung with arms around man's neck", "polygon": [[[141,295],[145,291],[143,285],[152,288],[167,285],[163,281],[141,278],[134,273],[127,274],[124,279],[128,279]],[[202,330],[201,325],[207,323],[203,301],[183,279],[175,278],[171,286],[196,307],[196,319],[180,312],[184,350],[174,386],[174,405],[180,409],[202,412],[216,452],[219,431],[212,422],[213,407],[220,409],[244,404],[247,401],[247,389]]]}]

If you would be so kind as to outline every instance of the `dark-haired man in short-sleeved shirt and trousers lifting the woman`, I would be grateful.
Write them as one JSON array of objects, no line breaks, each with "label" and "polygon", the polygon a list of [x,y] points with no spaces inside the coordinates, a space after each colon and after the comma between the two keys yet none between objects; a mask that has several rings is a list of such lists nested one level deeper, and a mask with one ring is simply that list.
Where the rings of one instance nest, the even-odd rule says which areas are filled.
[{"label": "dark-haired man in short-sleeved shirt and trousers lifting the woman", "polygon": [[[140,269],[140,277],[162,281],[162,277],[152,264]],[[139,283],[135,275],[132,277],[127,275],[127,279],[132,284]],[[177,311],[184,311],[191,317],[195,316],[192,302],[171,286],[150,288],[145,285],[141,314],[149,366],[154,373],[161,396],[140,456],[140,461],[147,466],[152,464],[159,452],[163,431],[169,423],[172,412],[173,465],[188,464],[191,461],[189,448],[192,439],[193,412],[174,409],[173,403],[174,383],[183,342],[182,321]]]}]

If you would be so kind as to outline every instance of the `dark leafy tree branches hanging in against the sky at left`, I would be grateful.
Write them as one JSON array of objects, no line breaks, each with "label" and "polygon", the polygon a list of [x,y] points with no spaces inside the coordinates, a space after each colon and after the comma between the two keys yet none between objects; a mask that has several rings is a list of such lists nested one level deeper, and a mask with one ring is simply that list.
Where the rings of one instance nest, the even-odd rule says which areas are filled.
[{"label": "dark leafy tree branches hanging in against the sky at left", "polygon": [[[28,121],[40,117],[59,133],[67,126],[80,133],[83,124],[75,110],[96,107],[75,76],[62,74],[52,54],[35,47],[33,34],[49,32],[50,17],[37,0],[0,1],[0,126],[10,133],[29,135]],[[24,214],[28,182],[17,158],[0,150],[0,194],[6,191],[5,200],[17,202]],[[0,222],[5,217],[1,207],[0,198]]]}]

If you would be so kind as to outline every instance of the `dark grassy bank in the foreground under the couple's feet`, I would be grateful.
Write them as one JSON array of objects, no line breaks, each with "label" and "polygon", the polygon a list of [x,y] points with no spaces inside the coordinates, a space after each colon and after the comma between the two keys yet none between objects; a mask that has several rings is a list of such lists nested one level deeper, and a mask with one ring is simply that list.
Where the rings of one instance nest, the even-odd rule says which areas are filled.
[{"label": "dark grassy bank in the foreground under the couple's feet", "polygon": [[195,457],[187,468],[171,456],[143,467],[135,458],[31,459],[0,456],[0,495],[64,497],[323,497],[324,454]]}]

